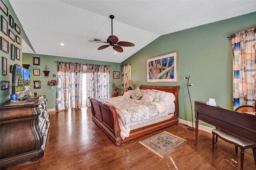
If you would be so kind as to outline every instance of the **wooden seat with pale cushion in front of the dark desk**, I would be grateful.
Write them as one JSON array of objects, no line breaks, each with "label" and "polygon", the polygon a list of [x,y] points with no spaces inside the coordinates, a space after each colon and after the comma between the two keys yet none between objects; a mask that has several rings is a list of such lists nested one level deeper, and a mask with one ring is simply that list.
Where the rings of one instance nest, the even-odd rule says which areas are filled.
[{"label": "wooden seat with pale cushion in front of the dark desk", "polygon": [[[215,140],[216,135],[216,141]],[[212,129],[212,153],[214,152],[214,144],[218,142],[218,137],[220,137],[222,140],[234,144],[235,145],[235,151],[236,154],[238,154],[238,147],[241,149],[240,152],[240,170],[244,167],[244,150],[248,148],[252,148],[253,157],[254,157],[254,163],[256,164],[256,144],[249,142],[248,140],[245,140],[243,138],[240,138],[234,134],[231,134],[225,130],[222,129]]]}]

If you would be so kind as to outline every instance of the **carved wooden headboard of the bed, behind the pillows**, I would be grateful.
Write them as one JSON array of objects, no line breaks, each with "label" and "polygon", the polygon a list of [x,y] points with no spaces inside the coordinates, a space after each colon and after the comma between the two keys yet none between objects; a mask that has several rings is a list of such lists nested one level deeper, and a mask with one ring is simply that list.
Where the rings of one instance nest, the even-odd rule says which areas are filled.
[{"label": "carved wooden headboard of the bed, behind the pillows", "polygon": [[141,90],[160,90],[160,91],[165,91],[165,92],[169,92],[169,93],[173,93],[175,96],[175,112],[174,115],[176,116],[176,118],[178,118],[179,116],[179,101],[178,101],[178,94],[179,94],[179,90],[180,90],[180,86],[155,86],[155,85],[140,85],[140,89]]}]

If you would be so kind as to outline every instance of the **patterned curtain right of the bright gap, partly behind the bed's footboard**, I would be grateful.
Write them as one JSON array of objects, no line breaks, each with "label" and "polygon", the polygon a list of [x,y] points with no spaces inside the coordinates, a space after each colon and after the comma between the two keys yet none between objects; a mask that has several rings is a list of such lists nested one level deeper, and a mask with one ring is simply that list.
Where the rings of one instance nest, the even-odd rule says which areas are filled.
[{"label": "patterned curtain right of the bright gap, partly behind the bed's footboard", "polygon": [[86,107],[90,107],[91,103],[88,97],[94,99],[110,97],[110,66],[87,64],[87,80],[86,80]]}]

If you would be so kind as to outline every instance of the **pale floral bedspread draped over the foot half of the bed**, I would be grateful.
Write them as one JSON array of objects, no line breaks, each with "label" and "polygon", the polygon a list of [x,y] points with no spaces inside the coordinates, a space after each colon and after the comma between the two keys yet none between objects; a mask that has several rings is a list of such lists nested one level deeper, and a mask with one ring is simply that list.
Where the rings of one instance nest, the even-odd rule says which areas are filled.
[{"label": "pale floral bedspread draped over the foot half of the bed", "polygon": [[125,99],[121,96],[98,99],[98,101],[116,107],[118,117],[122,120],[126,128],[129,127],[132,122],[143,121],[159,115],[156,105],[151,102]]}]

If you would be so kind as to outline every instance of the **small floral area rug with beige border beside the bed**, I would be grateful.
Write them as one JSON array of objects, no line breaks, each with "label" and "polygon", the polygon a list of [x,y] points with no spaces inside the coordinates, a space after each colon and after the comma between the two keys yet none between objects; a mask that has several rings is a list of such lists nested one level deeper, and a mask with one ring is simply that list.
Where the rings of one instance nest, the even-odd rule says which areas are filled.
[{"label": "small floral area rug with beige border beside the bed", "polygon": [[185,139],[164,131],[156,134],[155,136],[152,136],[151,138],[143,140],[142,142],[139,142],[158,156],[164,158],[165,154],[185,141]]}]

